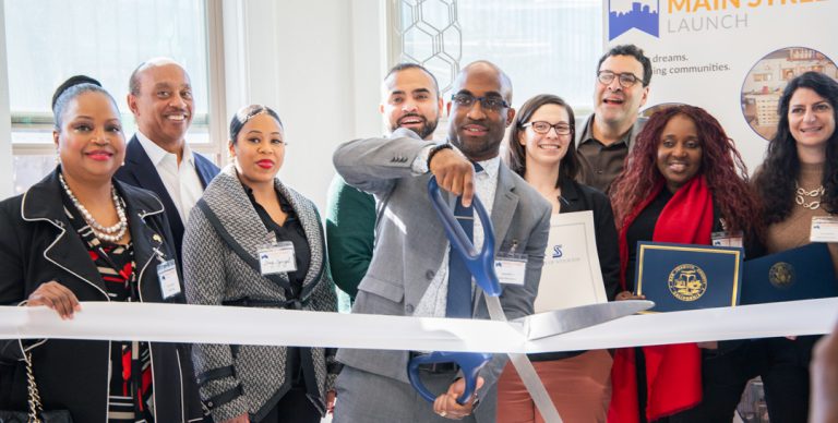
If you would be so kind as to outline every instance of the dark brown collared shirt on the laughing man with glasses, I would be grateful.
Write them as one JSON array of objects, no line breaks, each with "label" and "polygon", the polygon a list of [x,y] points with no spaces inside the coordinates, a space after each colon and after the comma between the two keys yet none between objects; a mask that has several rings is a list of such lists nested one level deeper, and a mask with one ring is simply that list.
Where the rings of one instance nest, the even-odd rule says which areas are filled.
[{"label": "dark brown collared shirt on the laughing man with glasses", "polygon": [[585,122],[576,140],[576,157],[579,159],[579,174],[576,180],[585,185],[608,193],[611,182],[623,171],[625,157],[634,145],[634,138],[646,124],[646,118],[637,118],[634,125],[620,140],[604,145],[594,137],[594,114]]}]

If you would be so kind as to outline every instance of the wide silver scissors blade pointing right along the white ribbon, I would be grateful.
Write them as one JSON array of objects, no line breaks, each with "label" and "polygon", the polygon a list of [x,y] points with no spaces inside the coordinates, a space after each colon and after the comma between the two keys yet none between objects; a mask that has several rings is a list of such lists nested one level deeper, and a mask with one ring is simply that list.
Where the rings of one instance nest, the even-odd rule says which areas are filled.
[{"label": "wide silver scissors blade pointing right along the white ribbon", "polygon": [[655,303],[646,300],[615,301],[534,314],[513,322],[523,323],[524,335],[536,340],[599,325],[653,306]]}]

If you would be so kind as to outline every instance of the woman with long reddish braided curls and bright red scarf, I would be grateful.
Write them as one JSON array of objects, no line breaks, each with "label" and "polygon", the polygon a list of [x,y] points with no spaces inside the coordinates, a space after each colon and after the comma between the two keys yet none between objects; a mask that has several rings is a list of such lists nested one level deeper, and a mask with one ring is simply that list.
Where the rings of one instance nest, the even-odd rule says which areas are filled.
[{"label": "woman with long reddish braided curls and bright red scarf", "polygon": [[[611,192],[622,266],[616,300],[639,298],[632,293],[637,241],[709,245],[711,234],[720,231],[755,241],[759,228],[752,217],[758,216],[758,203],[746,178],[733,142],[704,109],[673,106],[653,114]],[[707,386],[703,389],[703,372],[723,373],[713,368],[725,364],[711,362],[720,355],[717,347],[704,342],[618,350],[609,422],[714,421],[707,420],[708,401],[696,406],[703,396],[714,395]]]}]

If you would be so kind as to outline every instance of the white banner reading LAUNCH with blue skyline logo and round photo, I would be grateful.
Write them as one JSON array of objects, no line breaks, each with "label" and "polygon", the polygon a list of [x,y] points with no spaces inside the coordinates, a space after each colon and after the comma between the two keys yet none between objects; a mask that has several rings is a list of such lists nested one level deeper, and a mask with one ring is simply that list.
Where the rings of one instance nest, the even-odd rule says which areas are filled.
[{"label": "white banner reading LAUNCH with blue skyline logo and round photo", "polygon": [[[806,71],[838,80],[836,0],[604,0],[606,45],[651,59],[645,109],[705,108],[747,164],[763,161],[788,81]],[[831,16],[831,17],[830,17]]]}]

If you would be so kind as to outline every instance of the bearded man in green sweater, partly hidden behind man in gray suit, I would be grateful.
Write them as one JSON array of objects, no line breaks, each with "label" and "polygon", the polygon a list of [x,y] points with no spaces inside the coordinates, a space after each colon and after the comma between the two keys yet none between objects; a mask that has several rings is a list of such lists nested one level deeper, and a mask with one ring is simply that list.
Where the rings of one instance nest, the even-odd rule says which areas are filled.
[{"label": "bearded man in green sweater, partly hidden behind man in gray suit", "polygon": [[[379,111],[390,132],[407,128],[431,140],[442,113],[436,78],[416,63],[399,63],[382,83]],[[332,277],[351,301],[367,274],[375,239],[375,198],[346,184],[339,174],[332,180],[326,211],[328,264]]]}]

